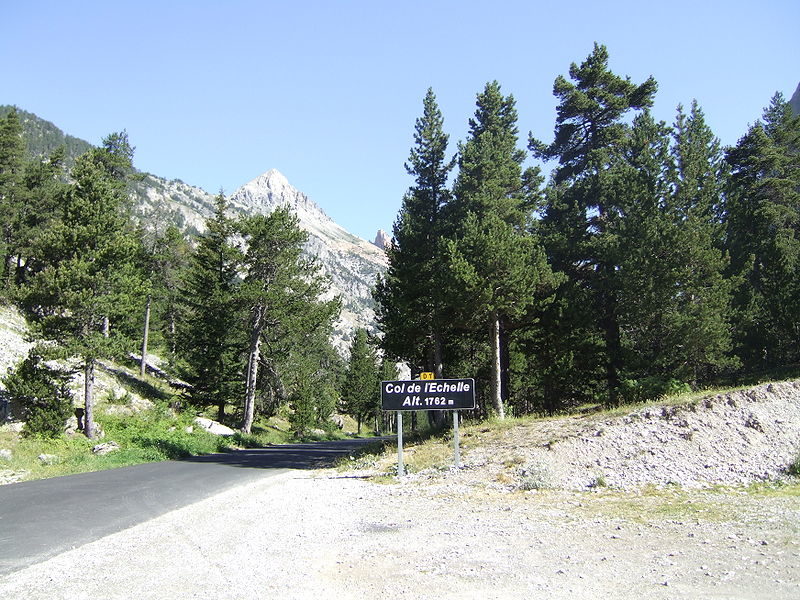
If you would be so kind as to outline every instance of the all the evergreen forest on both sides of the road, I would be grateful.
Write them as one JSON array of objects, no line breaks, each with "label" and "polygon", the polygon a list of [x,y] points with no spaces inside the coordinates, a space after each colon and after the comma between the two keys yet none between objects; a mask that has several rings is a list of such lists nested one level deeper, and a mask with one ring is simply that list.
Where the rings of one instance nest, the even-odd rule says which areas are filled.
[{"label": "all the evergreen forest on both sides of the road", "polygon": [[0,290],[42,343],[6,388],[48,431],[72,406],[70,374],[50,359],[73,365],[91,437],[98,361],[134,352],[142,372],[148,353],[165,357],[184,407],[215,407],[245,432],[285,406],[298,430],[336,411],[380,427],[378,384],[397,362],[474,377],[476,417],[796,372],[800,117],[776,94],[722,148],[696,102],[656,121],[656,81],[608,63],[595,45],[556,79],[548,141],[520,139],[516,99],[494,81],[450,148],[428,91],[375,286],[380,335],[357,332],[346,360],[330,343],[346,299],[321,300],[292,214],[232,218],[220,194],[202,234],[147,227],[124,131],[67,160],[65,146],[26,147],[10,110]]}]

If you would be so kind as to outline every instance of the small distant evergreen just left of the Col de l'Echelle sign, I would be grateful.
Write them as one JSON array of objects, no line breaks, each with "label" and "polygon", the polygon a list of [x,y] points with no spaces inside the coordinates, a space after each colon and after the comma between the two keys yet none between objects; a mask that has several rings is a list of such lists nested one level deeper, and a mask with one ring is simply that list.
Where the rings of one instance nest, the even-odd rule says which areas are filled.
[{"label": "small distant evergreen just left of the Col de l'Echelle sign", "polygon": [[353,336],[341,395],[344,411],[356,420],[360,434],[362,423],[376,419],[380,411],[378,360],[366,329],[357,329]]}]

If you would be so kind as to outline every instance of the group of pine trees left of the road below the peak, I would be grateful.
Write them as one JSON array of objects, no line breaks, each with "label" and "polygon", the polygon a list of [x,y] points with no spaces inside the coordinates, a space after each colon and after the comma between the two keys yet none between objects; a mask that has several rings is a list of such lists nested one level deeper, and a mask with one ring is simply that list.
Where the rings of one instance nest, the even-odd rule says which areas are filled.
[{"label": "group of pine trees left of the road below the peak", "polygon": [[0,121],[0,291],[39,343],[3,387],[28,433],[60,435],[79,372],[93,437],[98,364],[135,353],[142,376],[157,355],[183,381],[174,405],[213,407],[244,433],[287,405],[298,432],[333,426],[346,366],[331,345],[341,302],[322,299],[328,283],[303,254],[296,216],[233,218],[219,194],[205,232],[187,237],[174,223],[134,218],[142,175],[125,132],[69,161],[65,145],[39,150],[26,148],[9,111]]}]

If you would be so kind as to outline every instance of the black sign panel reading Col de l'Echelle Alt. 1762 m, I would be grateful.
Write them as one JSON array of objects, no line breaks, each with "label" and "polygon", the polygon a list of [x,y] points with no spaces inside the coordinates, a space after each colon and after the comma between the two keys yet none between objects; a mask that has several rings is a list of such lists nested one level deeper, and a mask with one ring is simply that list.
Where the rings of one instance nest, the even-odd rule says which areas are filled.
[{"label": "black sign panel reading Col de l'Echelle Alt. 1762 m", "polygon": [[469,410],[475,408],[474,379],[384,381],[383,410]]}]

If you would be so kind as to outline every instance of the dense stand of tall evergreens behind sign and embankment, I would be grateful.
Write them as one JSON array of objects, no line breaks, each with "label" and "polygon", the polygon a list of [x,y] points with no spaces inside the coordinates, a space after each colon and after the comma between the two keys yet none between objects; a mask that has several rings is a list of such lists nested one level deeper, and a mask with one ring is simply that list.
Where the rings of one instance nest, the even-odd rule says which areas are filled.
[{"label": "dense stand of tall evergreens behind sign and embankment", "polygon": [[429,90],[376,288],[384,350],[476,377],[500,416],[796,373],[800,117],[777,93],[722,148],[694,101],[656,121],[657,88],[596,44],[555,80],[552,140],[520,140],[495,81],[455,152]]}]

